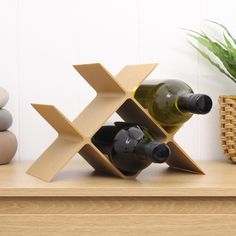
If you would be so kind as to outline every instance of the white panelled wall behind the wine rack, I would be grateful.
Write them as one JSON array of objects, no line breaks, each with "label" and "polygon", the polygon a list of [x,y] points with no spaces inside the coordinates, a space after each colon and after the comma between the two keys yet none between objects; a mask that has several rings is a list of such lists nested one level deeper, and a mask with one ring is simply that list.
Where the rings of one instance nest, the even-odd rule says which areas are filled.
[{"label": "white panelled wall behind the wine rack", "polygon": [[126,64],[159,62],[148,80],[178,78],[209,94],[212,112],[193,117],[176,139],[194,159],[223,158],[218,96],[236,86],[187,43],[181,28],[233,31],[231,0],[0,0],[0,86],[11,96],[18,159],[36,159],[56,134],[30,103],[54,104],[71,120],[95,96],[73,64],[101,62],[114,75]]}]

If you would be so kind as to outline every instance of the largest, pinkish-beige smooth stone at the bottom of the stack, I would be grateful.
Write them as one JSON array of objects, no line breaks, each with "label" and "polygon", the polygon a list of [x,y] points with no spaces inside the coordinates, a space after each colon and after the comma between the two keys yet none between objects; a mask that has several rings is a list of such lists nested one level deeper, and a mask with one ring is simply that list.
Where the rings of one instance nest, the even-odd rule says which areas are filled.
[{"label": "largest, pinkish-beige smooth stone at the bottom of the stack", "polygon": [[0,132],[0,165],[9,163],[17,150],[16,136],[10,131]]}]

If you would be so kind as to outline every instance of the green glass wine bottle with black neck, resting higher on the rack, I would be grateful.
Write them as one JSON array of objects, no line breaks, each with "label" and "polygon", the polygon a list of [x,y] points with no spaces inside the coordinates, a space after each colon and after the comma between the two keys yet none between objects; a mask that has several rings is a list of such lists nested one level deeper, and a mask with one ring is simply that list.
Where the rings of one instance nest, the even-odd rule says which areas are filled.
[{"label": "green glass wine bottle with black neck, resting higher on the rack", "polygon": [[180,80],[141,85],[134,97],[164,128],[181,126],[193,114],[206,114],[212,108],[209,96],[194,94],[191,87]]}]

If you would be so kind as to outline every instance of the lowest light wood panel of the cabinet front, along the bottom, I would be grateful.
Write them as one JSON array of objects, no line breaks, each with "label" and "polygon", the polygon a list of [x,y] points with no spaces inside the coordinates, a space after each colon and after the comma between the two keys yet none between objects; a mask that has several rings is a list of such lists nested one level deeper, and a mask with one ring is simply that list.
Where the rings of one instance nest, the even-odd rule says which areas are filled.
[{"label": "lowest light wood panel of the cabinet front, along the bottom", "polygon": [[236,216],[225,215],[0,215],[0,235],[227,235]]}]

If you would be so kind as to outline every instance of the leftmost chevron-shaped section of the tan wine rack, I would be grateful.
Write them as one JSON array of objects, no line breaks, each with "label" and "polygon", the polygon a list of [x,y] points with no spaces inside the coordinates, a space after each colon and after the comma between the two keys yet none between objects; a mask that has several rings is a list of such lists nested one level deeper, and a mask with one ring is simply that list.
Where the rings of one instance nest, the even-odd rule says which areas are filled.
[{"label": "leftmost chevron-shaped section of the tan wine rack", "polygon": [[33,107],[58,132],[58,138],[40,155],[27,173],[41,180],[51,181],[83,147],[83,138],[56,107],[41,104],[33,104]]}]

